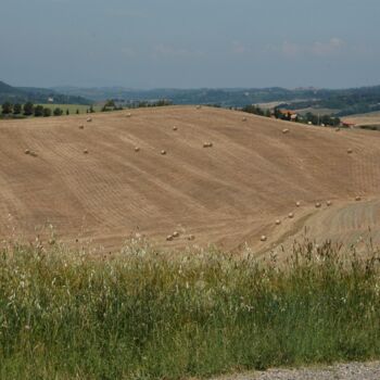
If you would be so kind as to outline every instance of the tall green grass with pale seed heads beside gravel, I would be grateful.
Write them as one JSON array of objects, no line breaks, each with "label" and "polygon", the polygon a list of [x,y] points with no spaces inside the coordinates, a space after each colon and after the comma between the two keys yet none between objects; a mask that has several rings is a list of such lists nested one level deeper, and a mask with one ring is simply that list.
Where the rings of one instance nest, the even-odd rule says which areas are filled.
[{"label": "tall green grass with pale seed heads beside gravel", "polygon": [[1,379],[180,379],[380,357],[380,268],[331,244],[288,265],[131,241],[113,258],[0,253]]}]

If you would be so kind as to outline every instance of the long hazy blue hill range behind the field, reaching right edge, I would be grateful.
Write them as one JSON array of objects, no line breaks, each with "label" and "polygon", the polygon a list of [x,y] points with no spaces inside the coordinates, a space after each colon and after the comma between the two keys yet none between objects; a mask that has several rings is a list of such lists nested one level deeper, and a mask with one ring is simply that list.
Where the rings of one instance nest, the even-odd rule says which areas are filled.
[{"label": "long hazy blue hill range behind the field, reaching right edge", "polygon": [[76,88],[58,87],[55,91],[93,101],[115,99],[125,102],[168,99],[174,104],[218,104],[241,107],[246,104],[277,103],[291,110],[332,110],[338,116],[380,111],[380,86],[352,89],[237,88],[237,89],[152,89],[135,90],[123,87]]}]

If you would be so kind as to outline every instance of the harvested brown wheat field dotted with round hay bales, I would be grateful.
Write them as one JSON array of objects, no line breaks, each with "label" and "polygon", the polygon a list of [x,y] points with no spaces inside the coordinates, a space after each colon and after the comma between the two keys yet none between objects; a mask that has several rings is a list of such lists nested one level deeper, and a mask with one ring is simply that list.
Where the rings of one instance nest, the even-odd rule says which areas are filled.
[{"label": "harvested brown wheat field dotted with round hay bales", "polygon": [[370,228],[380,242],[380,134],[220,109],[0,122],[0,186],[2,239],[52,225],[68,244],[110,251],[139,233],[265,252],[307,226],[350,242]]}]

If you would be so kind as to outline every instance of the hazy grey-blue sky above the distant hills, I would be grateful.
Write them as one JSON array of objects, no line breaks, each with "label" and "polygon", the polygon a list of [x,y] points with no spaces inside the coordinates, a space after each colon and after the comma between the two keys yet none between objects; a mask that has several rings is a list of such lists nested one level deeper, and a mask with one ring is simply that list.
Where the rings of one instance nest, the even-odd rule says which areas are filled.
[{"label": "hazy grey-blue sky above the distant hills", "polygon": [[13,86],[380,85],[379,0],[1,0]]}]

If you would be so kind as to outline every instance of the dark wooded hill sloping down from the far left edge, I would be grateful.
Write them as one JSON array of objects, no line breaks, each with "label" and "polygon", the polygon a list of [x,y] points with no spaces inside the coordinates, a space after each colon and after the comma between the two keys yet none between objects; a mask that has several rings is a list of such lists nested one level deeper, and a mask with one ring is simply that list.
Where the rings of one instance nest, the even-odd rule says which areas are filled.
[{"label": "dark wooded hill sloping down from the far left edge", "polygon": [[0,80],[0,103],[47,103],[49,98],[55,104],[91,104],[92,102],[80,96],[62,94],[53,89],[13,87]]}]

